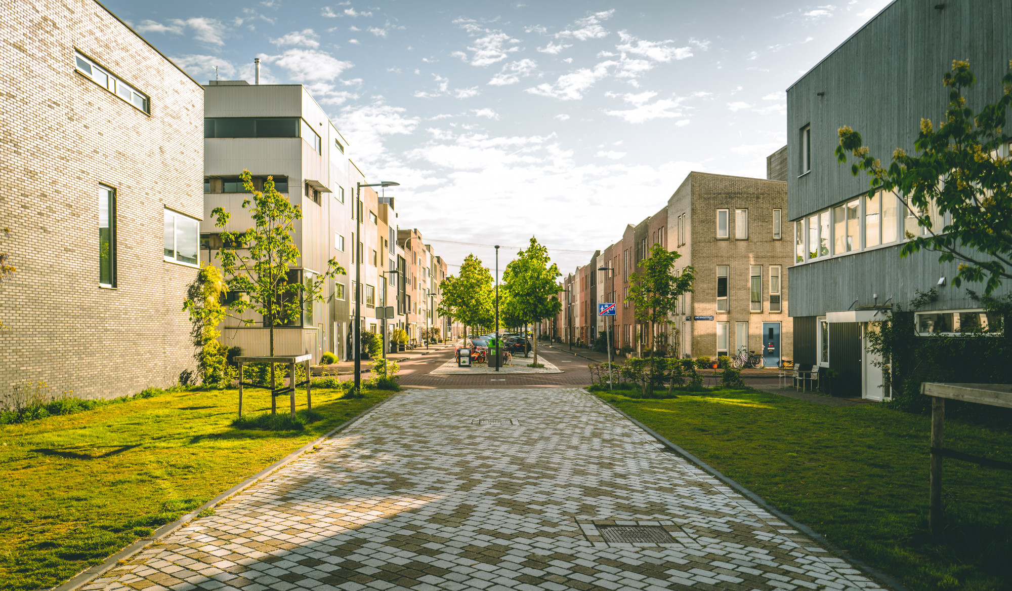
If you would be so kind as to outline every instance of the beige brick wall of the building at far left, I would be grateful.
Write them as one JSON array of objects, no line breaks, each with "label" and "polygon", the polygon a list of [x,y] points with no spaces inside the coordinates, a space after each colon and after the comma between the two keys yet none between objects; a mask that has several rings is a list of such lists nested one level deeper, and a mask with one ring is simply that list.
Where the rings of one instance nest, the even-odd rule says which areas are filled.
[{"label": "beige brick wall of the building at far left", "polygon": [[[202,89],[91,0],[4,2],[0,405],[13,386],[108,398],[193,366],[193,267],[163,260],[163,207],[202,215]],[[151,115],[79,74],[74,50],[151,96]],[[98,184],[117,191],[115,289],[98,285]]]}]

